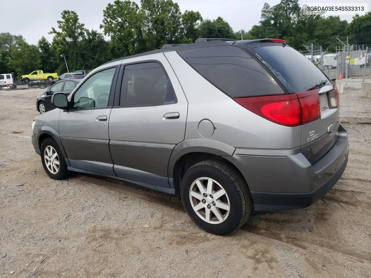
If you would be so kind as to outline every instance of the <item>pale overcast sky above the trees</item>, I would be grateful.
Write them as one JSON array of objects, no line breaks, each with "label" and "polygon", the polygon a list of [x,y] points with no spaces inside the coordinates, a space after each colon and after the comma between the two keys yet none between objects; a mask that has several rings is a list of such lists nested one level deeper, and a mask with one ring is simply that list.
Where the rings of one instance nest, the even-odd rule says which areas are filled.
[{"label": "pale overcast sky above the trees", "polygon": [[[5,0],[0,0],[0,2]],[[204,19],[216,19],[223,17],[234,30],[245,29],[246,31],[257,24],[260,20],[260,12],[265,2],[271,6],[278,4],[279,0],[173,0],[179,4],[180,10],[199,11]],[[114,0],[17,0],[9,2],[11,12],[1,12],[0,33],[10,32],[22,34],[28,43],[37,44],[37,41],[45,36],[50,42],[53,35],[48,32],[51,27],[57,27],[60,13],[63,10],[75,11],[81,23],[85,23],[88,29],[99,29],[102,23],[103,10],[108,3]],[[138,4],[140,0],[135,0]],[[300,0],[304,3],[349,3],[351,0]],[[359,3],[368,3],[371,9],[371,0],[358,0]],[[8,7],[6,5],[6,7]],[[341,19],[352,20],[352,16],[341,16]]]}]

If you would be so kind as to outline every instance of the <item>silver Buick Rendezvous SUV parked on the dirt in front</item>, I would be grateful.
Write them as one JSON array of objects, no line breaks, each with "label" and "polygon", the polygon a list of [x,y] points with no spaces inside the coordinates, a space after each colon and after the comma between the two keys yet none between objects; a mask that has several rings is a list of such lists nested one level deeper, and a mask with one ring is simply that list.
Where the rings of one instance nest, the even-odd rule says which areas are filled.
[{"label": "silver Buick Rendezvous SUV parked on the dirt in front", "polygon": [[[295,61],[295,62],[293,62]],[[250,213],[322,198],[348,161],[338,90],[277,39],[198,39],[99,66],[33,122],[46,173],[180,193],[224,235]]]}]

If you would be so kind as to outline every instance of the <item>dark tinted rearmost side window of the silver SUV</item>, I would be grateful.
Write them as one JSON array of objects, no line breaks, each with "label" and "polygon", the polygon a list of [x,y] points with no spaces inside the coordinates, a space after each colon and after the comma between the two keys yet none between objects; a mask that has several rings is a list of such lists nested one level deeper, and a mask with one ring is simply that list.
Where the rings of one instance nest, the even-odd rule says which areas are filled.
[{"label": "dark tinted rearmost side window of the silver SUV", "polygon": [[179,50],[201,76],[230,97],[283,94],[272,76],[244,50],[213,46]]}]

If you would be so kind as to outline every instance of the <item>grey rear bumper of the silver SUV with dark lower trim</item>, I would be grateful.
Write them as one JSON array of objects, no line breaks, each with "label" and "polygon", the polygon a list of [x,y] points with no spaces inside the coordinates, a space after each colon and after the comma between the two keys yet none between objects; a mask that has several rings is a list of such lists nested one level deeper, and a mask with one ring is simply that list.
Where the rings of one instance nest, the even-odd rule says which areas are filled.
[{"label": "grey rear bumper of the silver SUV with dark lower trim", "polygon": [[272,151],[270,156],[244,153],[246,150],[236,149],[232,157],[225,158],[246,179],[256,211],[305,208],[321,199],[341,178],[348,162],[348,134],[339,125],[334,146],[313,164],[301,150],[288,150],[285,156],[282,151]]}]

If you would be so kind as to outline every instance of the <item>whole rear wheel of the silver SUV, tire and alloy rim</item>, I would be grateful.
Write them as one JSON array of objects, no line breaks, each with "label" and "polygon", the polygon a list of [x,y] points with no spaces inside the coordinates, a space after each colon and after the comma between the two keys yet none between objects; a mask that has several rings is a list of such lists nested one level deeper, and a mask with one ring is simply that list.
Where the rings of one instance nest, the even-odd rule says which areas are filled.
[{"label": "whole rear wheel of the silver SUV, tire and alloy rim", "polygon": [[[208,190],[207,184],[210,179],[213,186]],[[202,190],[207,193],[206,196],[202,194],[196,181],[203,183]],[[225,194],[220,193],[222,189]],[[241,174],[217,160],[199,162],[188,169],[181,181],[180,195],[190,218],[201,229],[215,235],[226,235],[236,231],[246,223],[252,211],[249,188]],[[219,217],[214,211],[219,212]],[[209,221],[207,214],[210,214]]]}]

